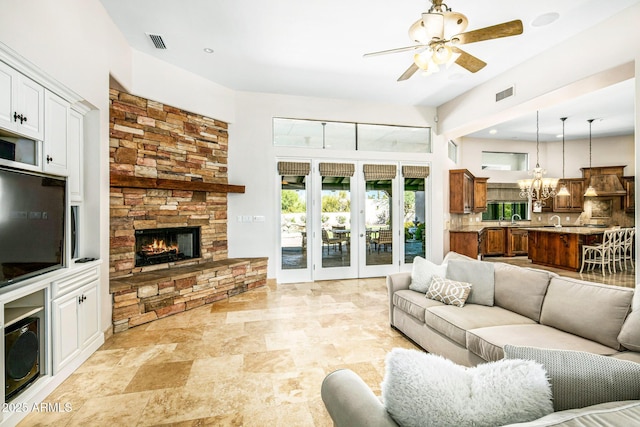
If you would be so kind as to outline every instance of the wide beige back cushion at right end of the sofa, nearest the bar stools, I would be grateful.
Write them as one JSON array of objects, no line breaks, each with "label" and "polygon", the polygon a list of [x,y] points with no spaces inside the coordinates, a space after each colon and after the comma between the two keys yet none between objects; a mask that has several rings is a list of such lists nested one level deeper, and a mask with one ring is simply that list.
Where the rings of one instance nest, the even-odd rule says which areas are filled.
[{"label": "wide beige back cushion at right end of the sofa, nearest the bar stools", "polygon": [[618,334],[632,299],[632,288],[553,277],[540,323],[620,350]]}]

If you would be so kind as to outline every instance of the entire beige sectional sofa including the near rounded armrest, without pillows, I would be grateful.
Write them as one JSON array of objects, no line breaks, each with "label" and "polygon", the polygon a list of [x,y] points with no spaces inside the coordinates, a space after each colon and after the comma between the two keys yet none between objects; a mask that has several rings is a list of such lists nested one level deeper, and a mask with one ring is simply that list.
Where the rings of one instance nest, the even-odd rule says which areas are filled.
[{"label": "entire beige sectional sofa including the near rounded armrest, without pillows", "polygon": [[[474,263],[485,263],[452,252],[442,267],[460,260],[472,270],[481,266]],[[491,264],[492,298],[474,303],[472,290],[463,307],[426,298],[425,293],[410,289],[412,273],[388,276],[391,326],[429,353],[469,367],[502,359],[505,345],[575,350],[640,363],[640,312],[631,312],[634,289],[505,263]],[[473,272],[467,275],[474,278]],[[637,375],[636,365],[630,366]],[[584,372],[575,375],[582,375],[581,384],[590,384],[588,375],[585,382]],[[564,381],[564,371],[561,376]],[[553,383],[551,378],[552,388]],[[585,392],[575,390],[576,396]],[[556,408],[559,412],[523,425],[628,424],[629,420],[640,419],[640,396],[635,396],[636,391],[632,394],[634,400],[630,401],[600,400],[605,403]],[[336,426],[396,426],[384,403],[352,371],[329,374],[322,385],[322,398]]]}]

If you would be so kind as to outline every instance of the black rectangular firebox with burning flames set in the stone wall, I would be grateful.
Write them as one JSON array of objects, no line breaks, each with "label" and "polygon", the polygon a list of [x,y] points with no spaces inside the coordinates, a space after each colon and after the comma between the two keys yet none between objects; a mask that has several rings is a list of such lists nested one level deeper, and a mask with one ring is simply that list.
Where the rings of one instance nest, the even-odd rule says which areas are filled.
[{"label": "black rectangular firebox with burning flames set in the stone wall", "polygon": [[136,267],[200,258],[200,227],[136,230]]}]

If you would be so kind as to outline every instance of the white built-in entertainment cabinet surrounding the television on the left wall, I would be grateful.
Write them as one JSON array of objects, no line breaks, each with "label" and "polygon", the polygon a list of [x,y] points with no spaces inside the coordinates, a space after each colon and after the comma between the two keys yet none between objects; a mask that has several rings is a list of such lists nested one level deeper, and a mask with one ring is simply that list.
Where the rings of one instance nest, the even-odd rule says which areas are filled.
[{"label": "white built-in entertainment cabinet surrounding the television on the left wall", "polygon": [[[0,158],[0,165],[67,177],[67,212],[71,212],[72,207],[82,207],[85,199],[84,113],[89,110],[77,94],[31,67],[0,46],[0,138],[5,144],[16,144],[15,156]],[[66,225],[71,229],[70,218]],[[67,240],[69,236],[68,231]],[[69,250],[71,245],[65,247]],[[76,263],[72,258],[67,254],[64,268],[0,289],[2,329],[37,317],[40,339],[40,375],[10,402],[3,399],[5,407],[10,403],[13,408],[32,408],[104,342],[100,325],[101,261]],[[4,347],[4,339],[0,339],[3,371]],[[5,377],[0,375],[0,388],[4,383]],[[0,396],[4,398],[4,394]],[[0,427],[13,426],[25,415],[19,410],[0,412]]]}]

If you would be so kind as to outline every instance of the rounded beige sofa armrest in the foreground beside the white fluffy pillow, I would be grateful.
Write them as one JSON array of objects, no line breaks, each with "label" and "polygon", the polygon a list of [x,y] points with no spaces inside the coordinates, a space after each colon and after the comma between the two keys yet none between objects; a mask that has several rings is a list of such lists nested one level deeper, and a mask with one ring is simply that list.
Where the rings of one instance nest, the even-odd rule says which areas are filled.
[{"label": "rounded beige sofa armrest in the foreground beside the white fluffy pillow", "polygon": [[321,395],[335,427],[398,427],[380,399],[349,369],[327,375]]}]

